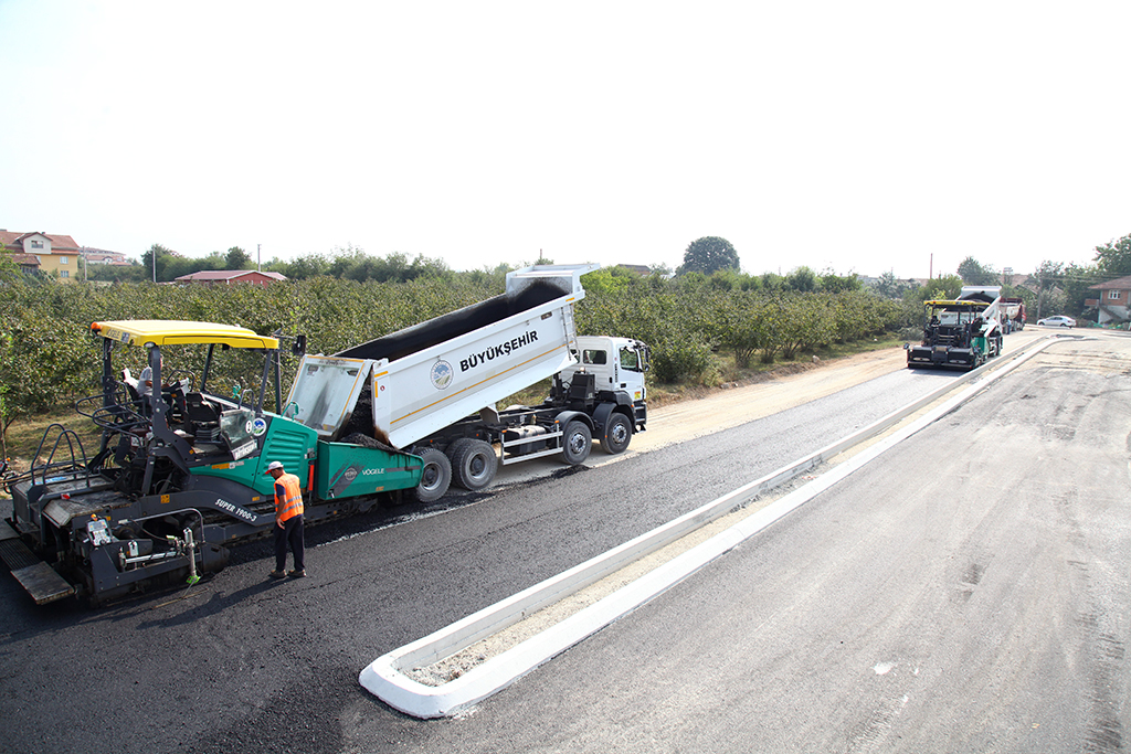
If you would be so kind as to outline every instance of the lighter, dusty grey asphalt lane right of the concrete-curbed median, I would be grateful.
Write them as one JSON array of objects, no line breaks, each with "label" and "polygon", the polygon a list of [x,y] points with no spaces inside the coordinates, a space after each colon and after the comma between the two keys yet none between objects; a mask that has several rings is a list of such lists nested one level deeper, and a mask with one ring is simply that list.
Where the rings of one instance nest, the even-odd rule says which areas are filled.
[{"label": "lighter, dusty grey asphalt lane right of the concrete-curbed median", "polygon": [[1122,751],[1129,364],[1015,374],[409,751]]}]

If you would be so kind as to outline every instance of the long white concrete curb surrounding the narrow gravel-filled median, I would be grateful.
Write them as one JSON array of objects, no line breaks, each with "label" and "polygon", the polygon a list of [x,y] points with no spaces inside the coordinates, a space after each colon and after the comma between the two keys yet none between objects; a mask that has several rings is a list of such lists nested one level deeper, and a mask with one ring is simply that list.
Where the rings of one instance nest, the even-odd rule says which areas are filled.
[{"label": "long white concrete curb surrounding the narrow gravel-filled median", "polygon": [[[924,426],[938,421],[939,417],[952,411],[959,405],[985,389],[994,380],[1008,374],[1035,356],[1053,343],[1053,338],[1048,338],[1033,341],[1017,354],[1011,355],[1012,361],[1004,365],[1002,365],[1002,361],[995,361],[973,372],[968,372],[956,381],[948,383],[943,388],[931,392],[929,396],[916,400],[898,411],[889,414],[849,437],[836,442],[787,467],[772,471],[702,508],[457,621],[431,635],[388,652],[366,666],[361,671],[359,681],[362,686],[381,701],[406,714],[416,718],[438,718],[457,714],[507,687],[530,670],[599,631],[619,617],[663,593],[722,554],[763,530],[791,511],[796,510],[891,447],[918,432]],[[935,407],[929,414],[920,417],[892,436],[858,453],[831,471],[789,493],[761,511],[753,513],[711,539],[658,566],[632,583],[579,610],[569,618],[476,666],[463,676],[440,686],[426,686],[402,673],[403,669],[431,665],[449,657],[524,619],[543,607],[554,604],[605,578],[629,563],[665,547],[694,529],[740,508],[745,502],[763,494],[768,489],[779,486],[845,450],[874,437],[908,415],[934,402],[943,395],[952,392],[957,384],[965,384],[986,375],[987,371],[993,367],[999,369],[988,375],[986,380],[967,387],[960,393]]]}]

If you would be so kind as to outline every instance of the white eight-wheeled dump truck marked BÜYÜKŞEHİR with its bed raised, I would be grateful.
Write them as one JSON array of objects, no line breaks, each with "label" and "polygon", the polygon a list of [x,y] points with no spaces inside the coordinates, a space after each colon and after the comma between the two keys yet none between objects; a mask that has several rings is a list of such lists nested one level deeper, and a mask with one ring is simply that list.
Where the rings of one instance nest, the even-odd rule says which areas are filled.
[{"label": "white eight-wheeled dump truck marked B\u00dcY\u00dcK\u015eEH\u0130R with its bed raised", "polygon": [[[424,502],[452,482],[482,489],[508,463],[544,456],[581,463],[594,439],[621,453],[647,428],[649,350],[631,338],[576,335],[580,278],[598,267],[516,270],[503,295],[304,356],[284,413],[323,440],[413,448],[424,460]],[[546,379],[543,402],[498,406]]]}]

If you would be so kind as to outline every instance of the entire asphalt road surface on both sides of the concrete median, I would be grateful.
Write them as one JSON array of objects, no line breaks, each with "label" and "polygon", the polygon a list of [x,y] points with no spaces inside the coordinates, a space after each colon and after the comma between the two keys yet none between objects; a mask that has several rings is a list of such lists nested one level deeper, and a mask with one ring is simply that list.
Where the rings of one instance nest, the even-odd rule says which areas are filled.
[{"label": "entire asphalt road surface on both sides of the concrete median", "polygon": [[[6,747],[1117,751],[1124,343],[1054,346],[464,719],[400,716],[357,671],[952,375],[893,363],[754,422],[735,423],[731,406],[714,434],[650,452],[634,439],[622,460],[466,496],[442,515],[313,529],[300,582],[266,582],[266,544],[191,590],[98,610],[35,608],[6,578]],[[710,414],[697,402],[694,422]]]}]

